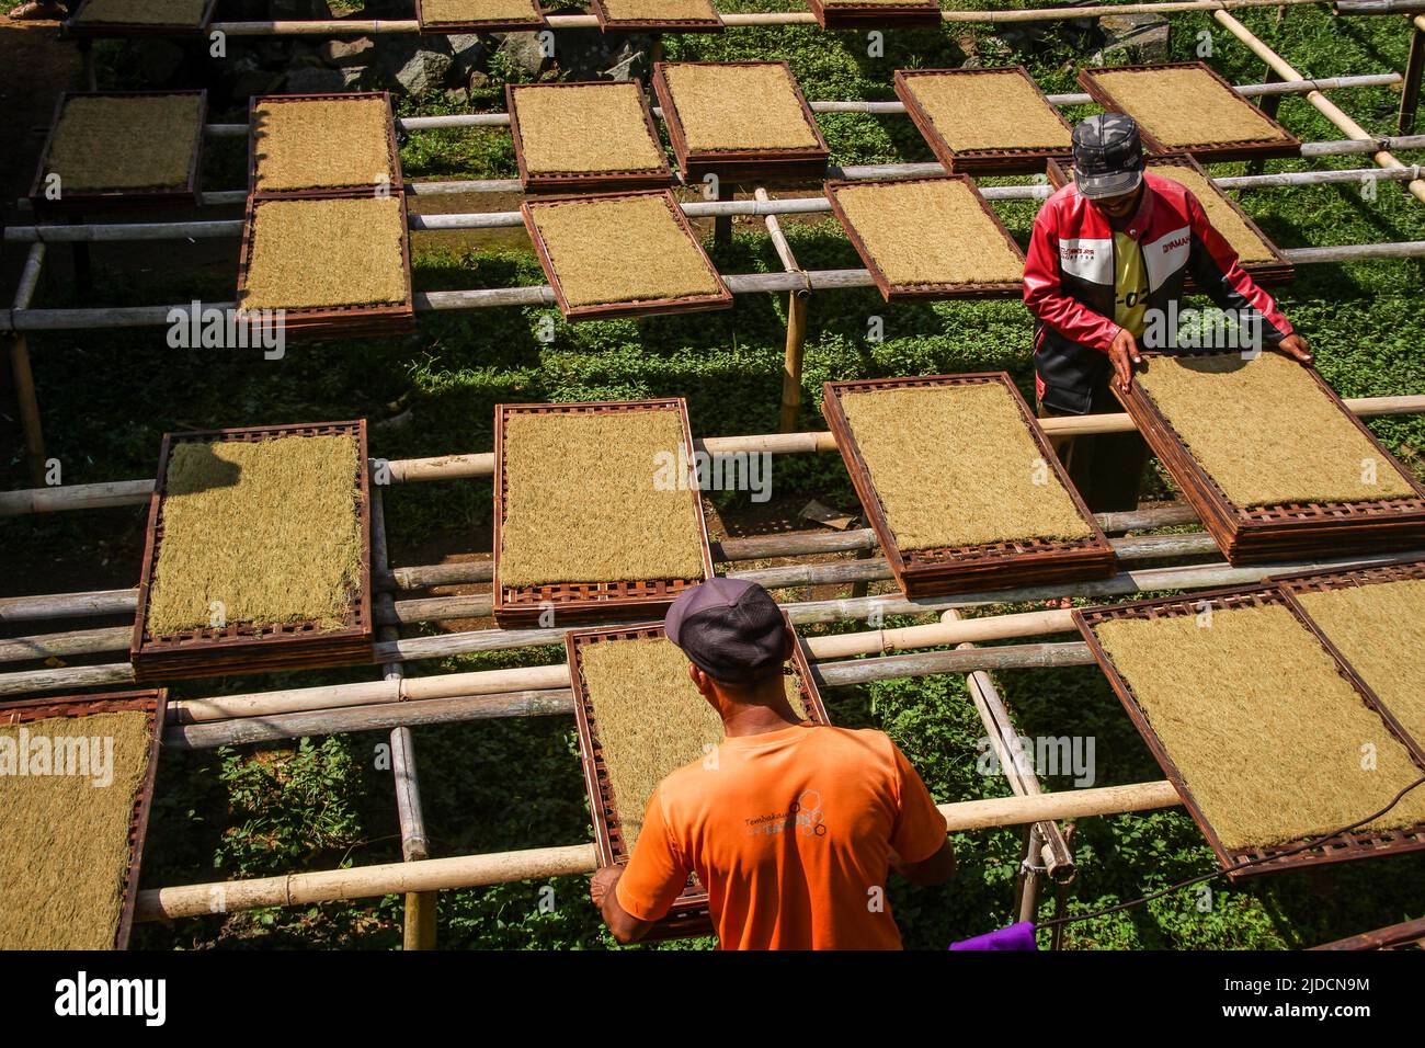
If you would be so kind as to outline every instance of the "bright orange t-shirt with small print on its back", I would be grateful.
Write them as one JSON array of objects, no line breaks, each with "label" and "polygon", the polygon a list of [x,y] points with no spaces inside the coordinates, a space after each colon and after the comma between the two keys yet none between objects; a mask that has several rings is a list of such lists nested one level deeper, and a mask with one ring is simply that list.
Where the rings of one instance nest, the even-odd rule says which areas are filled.
[{"label": "bright orange t-shirt with small print on its back", "polygon": [[722,950],[899,950],[891,851],[919,863],[945,834],[882,731],[804,723],[724,739],[658,784],[618,903],[656,921],[697,873]]}]

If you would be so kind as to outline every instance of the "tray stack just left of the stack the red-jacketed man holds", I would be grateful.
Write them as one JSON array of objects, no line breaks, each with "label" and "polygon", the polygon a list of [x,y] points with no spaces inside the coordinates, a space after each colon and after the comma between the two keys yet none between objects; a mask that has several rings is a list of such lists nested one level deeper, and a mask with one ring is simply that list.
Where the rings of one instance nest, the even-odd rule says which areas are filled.
[{"label": "tray stack just left of the stack the red-jacketed man holds", "polygon": [[821,409],[908,597],[1113,575],[1113,546],[1005,372],[828,382]]}]

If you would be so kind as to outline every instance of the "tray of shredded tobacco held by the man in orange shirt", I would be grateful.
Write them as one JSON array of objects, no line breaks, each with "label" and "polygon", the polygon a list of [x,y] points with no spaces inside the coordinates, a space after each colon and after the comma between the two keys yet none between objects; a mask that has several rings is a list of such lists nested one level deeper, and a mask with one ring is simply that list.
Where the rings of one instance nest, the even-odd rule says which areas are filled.
[{"label": "tray of shredded tobacco held by the man in orange shirt", "polygon": [[[693,687],[687,659],[664,637],[663,626],[573,632],[566,635],[564,646],[598,864],[623,864],[633,854],[653,787],[684,764],[705,757],[721,741],[722,724]],[[608,650],[620,646],[627,650]],[[807,720],[831,723],[801,637],[782,672],[792,707],[801,706]],[[636,687],[643,694],[634,696]],[[631,707],[644,697],[664,706]],[[630,757],[643,767],[627,769]],[[661,766],[647,767],[653,759]],[[693,875],[668,915],[644,941],[711,931],[707,888]]]}]

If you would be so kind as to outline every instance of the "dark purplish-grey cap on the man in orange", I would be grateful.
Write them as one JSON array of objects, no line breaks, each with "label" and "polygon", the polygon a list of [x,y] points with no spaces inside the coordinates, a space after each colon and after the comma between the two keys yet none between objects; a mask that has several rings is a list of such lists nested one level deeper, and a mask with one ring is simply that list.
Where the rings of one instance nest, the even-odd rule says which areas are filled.
[{"label": "dark purplish-grey cap on the man in orange", "polygon": [[712,577],[684,592],[663,620],[688,660],[714,680],[747,684],[787,657],[787,620],[755,582]]}]

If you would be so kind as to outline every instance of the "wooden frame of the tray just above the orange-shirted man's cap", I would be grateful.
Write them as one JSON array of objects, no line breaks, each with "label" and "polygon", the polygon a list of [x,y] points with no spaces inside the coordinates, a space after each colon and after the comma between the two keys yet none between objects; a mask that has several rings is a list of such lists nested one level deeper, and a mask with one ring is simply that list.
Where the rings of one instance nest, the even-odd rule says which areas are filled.
[{"label": "wooden frame of the tray just above the orange-shirted man's cap", "polygon": [[[701,579],[647,579],[643,582],[546,583],[542,586],[506,586],[500,580],[500,553],[504,549],[504,496],[509,475],[504,465],[504,426],[510,415],[604,415],[641,411],[675,411],[683,423],[683,441],[688,452],[688,495],[697,515],[703,555]],[[556,622],[608,622],[627,617],[663,615],[687,589],[711,579],[712,550],[708,545],[707,520],[703,516],[701,489],[695,483],[693,461],[693,429],[688,425],[688,404],[681,396],[650,401],[589,401],[583,404],[499,404],[494,406],[494,620],[504,629],[537,626],[540,615],[553,609]]]}]

